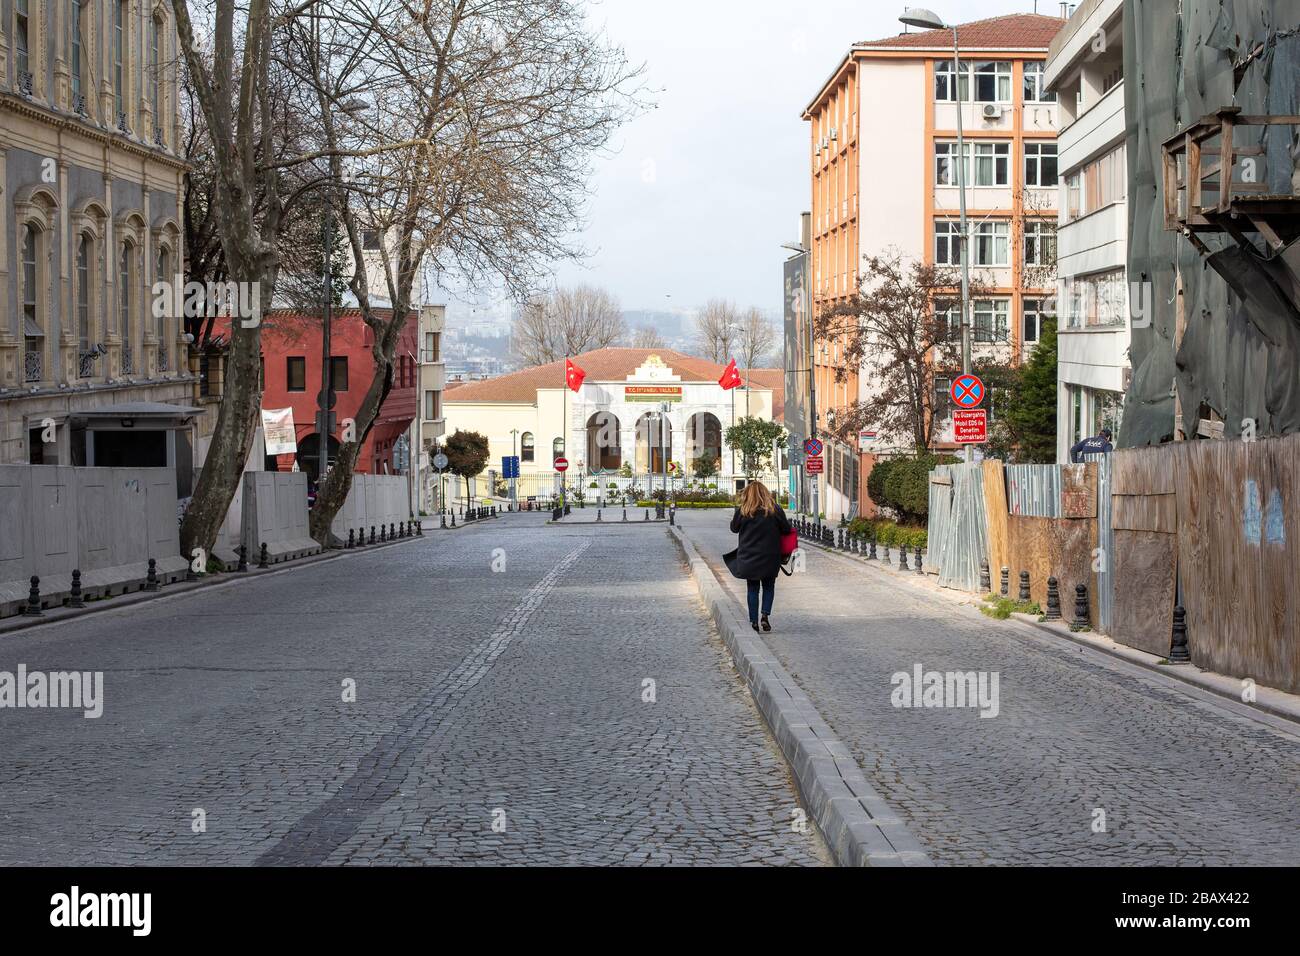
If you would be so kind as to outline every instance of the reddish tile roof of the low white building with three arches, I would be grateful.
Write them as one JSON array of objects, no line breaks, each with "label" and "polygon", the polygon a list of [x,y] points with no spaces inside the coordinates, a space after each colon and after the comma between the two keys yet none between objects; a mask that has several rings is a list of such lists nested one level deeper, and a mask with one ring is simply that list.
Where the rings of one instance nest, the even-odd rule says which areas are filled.
[{"label": "reddish tile roof of the low white building with three arches", "polygon": [[[658,355],[668,365],[673,375],[688,382],[718,381],[723,375],[723,365],[699,359],[694,355],[682,355],[671,349],[597,349],[572,356],[573,364],[586,372],[588,381],[623,381],[636,372],[645,360]],[[768,369],[753,369],[753,372],[766,372]],[[780,369],[772,369],[780,372]],[[759,388],[771,388],[768,384],[759,384],[757,376],[751,376]],[[450,386],[450,382],[448,382]],[[564,360],[550,362],[545,365],[533,365],[519,372],[499,375],[495,378],[481,381],[468,381],[458,385],[455,390],[450,388],[443,395],[446,402],[526,402],[537,401],[538,389],[564,388]],[[784,392],[784,389],[783,389]],[[776,394],[772,395],[774,402]]]}]

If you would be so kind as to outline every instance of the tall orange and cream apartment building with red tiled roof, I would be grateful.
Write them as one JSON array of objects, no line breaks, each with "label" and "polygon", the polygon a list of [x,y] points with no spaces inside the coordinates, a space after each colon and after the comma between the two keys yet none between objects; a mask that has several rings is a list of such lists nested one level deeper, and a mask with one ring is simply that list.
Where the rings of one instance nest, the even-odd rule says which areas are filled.
[{"label": "tall orange and cream apartment building with red tiled roof", "polygon": [[[853,295],[863,256],[897,250],[906,259],[959,264],[957,111],[966,140],[975,356],[1019,363],[1039,339],[1054,294],[1057,109],[1043,85],[1052,38],[1065,21],[1011,14],[958,25],[961,77],[950,30],[855,43],[803,112],[812,185],[812,308]],[[949,312],[953,302],[936,308]],[[836,381],[841,342],[818,342],[814,378],[819,425],[870,395],[870,367]],[[946,394],[946,381],[936,382]],[[946,402],[936,447],[952,446]],[[910,450],[881,436],[876,454]],[[871,514],[866,477],[875,455],[827,453],[822,501],[828,518]]]}]

